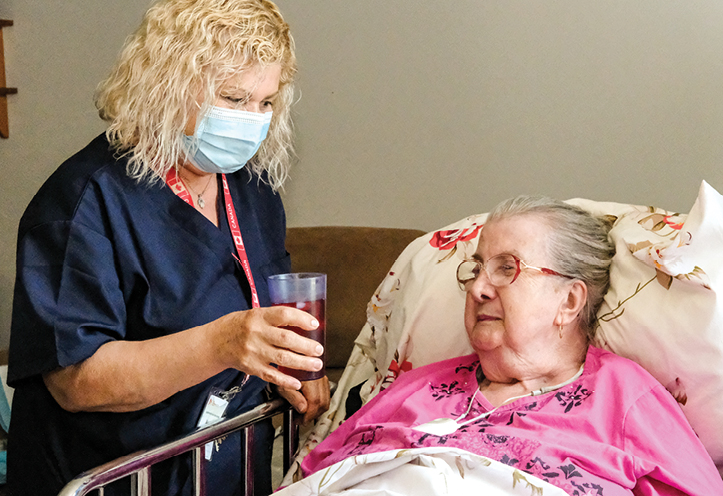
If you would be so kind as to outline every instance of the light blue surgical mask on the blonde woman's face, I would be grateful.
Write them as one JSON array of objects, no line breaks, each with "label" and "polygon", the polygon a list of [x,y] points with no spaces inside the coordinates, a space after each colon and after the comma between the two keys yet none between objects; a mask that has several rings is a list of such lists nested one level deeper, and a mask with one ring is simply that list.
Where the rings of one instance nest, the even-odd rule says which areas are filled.
[{"label": "light blue surgical mask on the blonde woman's face", "polygon": [[240,170],[261,146],[271,123],[271,114],[211,107],[196,127],[198,147],[185,136],[193,165],[203,172],[231,174]]}]

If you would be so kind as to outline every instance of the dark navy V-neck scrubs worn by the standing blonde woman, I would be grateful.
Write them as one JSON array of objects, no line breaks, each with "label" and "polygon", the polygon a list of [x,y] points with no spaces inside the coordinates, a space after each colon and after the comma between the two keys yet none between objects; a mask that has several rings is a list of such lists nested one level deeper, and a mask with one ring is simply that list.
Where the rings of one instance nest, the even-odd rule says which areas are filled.
[{"label": "dark navy V-neck scrubs worn by the standing blonde woman", "polygon": [[[46,389],[41,374],[76,364],[108,341],[164,336],[251,307],[223,208],[216,227],[165,184],[129,178],[125,166],[99,136],[58,168],[20,221],[8,377],[16,388],[10,494],[57,494],[87,469],[194,430],[211,388],[228,390],[243,377],[226,370],[130,413],[69,413]],[[267,306],[266,278],[290,269],[283,205],[246,169],[227,179]],[[229,409],[255,406],[264,387],[252,377]],[[216,470],[228,472],[224,463],[240,463],[237,449],[231,440],[221,444],[207,468],[212,479]],[[154,470],[154,494],[184,493],[186,462]]]}]

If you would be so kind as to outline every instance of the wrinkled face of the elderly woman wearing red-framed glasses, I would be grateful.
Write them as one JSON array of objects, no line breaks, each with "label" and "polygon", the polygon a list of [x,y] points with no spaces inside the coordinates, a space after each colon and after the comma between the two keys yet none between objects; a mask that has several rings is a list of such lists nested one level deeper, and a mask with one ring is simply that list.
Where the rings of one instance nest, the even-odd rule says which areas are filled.
[{"label": "wrinkled face of the elderly woman wearing red-framed glasses", "polygon": [[[475,258],[486,262],[512,254],[536,267],[554,269],[547,254],[549,226],[538,215],[520,215],[488,223]],[[557,359],[555,318],[566,299],[567,279],[523,269],[517,280],[495,287],[484,271],[468,286],[465,327],[472,347],[490,378],[497,372],[544,369]]]}]

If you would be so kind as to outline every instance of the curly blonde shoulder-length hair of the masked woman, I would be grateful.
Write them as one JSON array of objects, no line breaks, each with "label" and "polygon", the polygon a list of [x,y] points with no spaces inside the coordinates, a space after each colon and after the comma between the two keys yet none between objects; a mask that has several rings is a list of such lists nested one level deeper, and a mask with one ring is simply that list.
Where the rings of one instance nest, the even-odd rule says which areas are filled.
[{"label": "curly blonde shoulder-length hair of the masked woman", "polygon": [[268,136],[246,166],[277,190],[293,157],[296,56],[289,26],[269,0],[157,2],[98,86],[95,105],[109,122],[108,141],[128,158],[128,174],[154,183],[185,160],[184,128],[210,109],[224,82],[271,64],[281,66],[279,94]]}]

